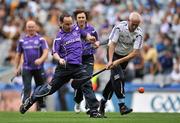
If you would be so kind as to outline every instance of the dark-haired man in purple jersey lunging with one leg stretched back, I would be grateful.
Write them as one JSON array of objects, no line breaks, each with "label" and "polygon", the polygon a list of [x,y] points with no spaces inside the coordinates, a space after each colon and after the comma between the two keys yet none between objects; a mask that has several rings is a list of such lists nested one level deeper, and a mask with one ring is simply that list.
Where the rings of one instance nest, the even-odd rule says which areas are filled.
[{"label": "dark-haired man in purple jersey lunging with one leg stretched back", "polygon": [[[53,94],[56,90],[70,81],[70,79],[83,79],[88,76],[82,66],[82,42],[81,38],[95,42],[95,37],[83,32],[78,26],[73,26],[72,17],[63,14],[60,17],[62,29],[58,32],[53,43],[53,57],[58,61],[53,79],[50,83],[36,88],[30,98],[20,107],[20,112],[24,114],[39,98]],[[97,108],[99,102],[93,93],[91,81],[79,86],[88,102],[90,117],[101,118]],[[76,84],[74,82],[74,84]],[[79,85],[79,84],[78,84]]]}]

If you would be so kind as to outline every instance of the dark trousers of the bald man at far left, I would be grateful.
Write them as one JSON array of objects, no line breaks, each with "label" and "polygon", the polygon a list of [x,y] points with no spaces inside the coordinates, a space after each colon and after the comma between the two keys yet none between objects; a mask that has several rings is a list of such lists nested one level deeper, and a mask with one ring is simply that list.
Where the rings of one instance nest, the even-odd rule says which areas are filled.
[{"label": "dark trousers of the bald man at far left", "polygon": [[[23,85],[24,85],[23,92],[22,92],[22,103],[24,103],[24,101],[27,98],[29,98],[31,95],[32,77],[34,77],[36,87],[43,85],[46,80],[44,69],[37,69],[37,70],[23,69],[22,70],[22,79],[23,79]],[[39,110],[40,108],[44,108],[45,106],[46,106],[45,100],[43,98],[39,99],[37,103],[37,109]]]}]

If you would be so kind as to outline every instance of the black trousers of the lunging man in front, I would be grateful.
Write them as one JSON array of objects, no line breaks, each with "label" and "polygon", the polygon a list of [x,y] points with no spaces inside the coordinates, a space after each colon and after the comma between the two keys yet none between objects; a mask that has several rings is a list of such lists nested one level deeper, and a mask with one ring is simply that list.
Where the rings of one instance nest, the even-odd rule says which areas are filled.
[{"label": "black trousers of the lunging man in front", "polygon": [[[51,90],[49,94],[54,93],[64,84],[70,81],[70,79],[82,79],[87,77],[89,74],[84,69],[83,65],[66,64],[66,66],[58,65],[55,70],[52,81],[49,83],[51,85]],[[85,85],[81,87],[81,91],[88,103],[90,109],[97,109],[99,102],[92,89],[92,83],[89,80]]]}]

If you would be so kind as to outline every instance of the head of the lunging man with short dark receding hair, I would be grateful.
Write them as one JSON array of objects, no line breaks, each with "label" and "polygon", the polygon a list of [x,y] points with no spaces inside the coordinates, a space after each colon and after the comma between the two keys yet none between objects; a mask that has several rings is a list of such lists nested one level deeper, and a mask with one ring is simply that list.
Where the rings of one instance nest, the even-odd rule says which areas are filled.
[{"label": "head of the lunging man with short dark receding hair", "polygon": [[62,14],[60,16],[59,21],[61,23],[62,29],[65,32],[70,32],[71,31],[71,27],[73,25],[73,19],[72,19],[71,15],[69,15],[67,13],[64,13],[64,14]]}]

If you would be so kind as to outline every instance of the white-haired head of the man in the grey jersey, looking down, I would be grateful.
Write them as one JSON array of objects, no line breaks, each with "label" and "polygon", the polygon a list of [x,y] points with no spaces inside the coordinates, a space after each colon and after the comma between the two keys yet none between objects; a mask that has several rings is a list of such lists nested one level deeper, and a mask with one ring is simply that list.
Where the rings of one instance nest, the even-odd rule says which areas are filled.
[{"label": "white-haired head of the man in the grey jersey, looking down", "polygon": [[128,25],[129,31],[134,32],[140,23],[141,23],[141,15],[137,12],[132,12],[129,15],[129,25]]}]

